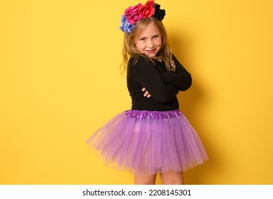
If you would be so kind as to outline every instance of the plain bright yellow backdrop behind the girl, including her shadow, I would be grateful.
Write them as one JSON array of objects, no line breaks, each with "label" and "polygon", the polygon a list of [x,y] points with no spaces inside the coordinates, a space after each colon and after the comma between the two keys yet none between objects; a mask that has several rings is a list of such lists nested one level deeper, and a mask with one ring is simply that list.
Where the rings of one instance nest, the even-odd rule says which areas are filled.
[{"label": "plain bright yellow backdrop behind the girl, including her shadow", "polygon": [[[137,3],[0,1],[0,184],[133,183],[85,140],[131,107],[118,27]],[[181,111],[210,157],[185,183],[272,184],[273,1],[157,3],[193,76]]]}]

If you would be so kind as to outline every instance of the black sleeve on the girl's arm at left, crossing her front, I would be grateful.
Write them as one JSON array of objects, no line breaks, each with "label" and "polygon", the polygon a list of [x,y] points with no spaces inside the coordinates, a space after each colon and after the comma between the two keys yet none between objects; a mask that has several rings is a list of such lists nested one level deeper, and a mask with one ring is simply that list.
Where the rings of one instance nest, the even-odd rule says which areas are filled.
[{"label": "black sleeve on the girl's arm at left, crossing her front", "polygon": [[178,89],[173,85],[166,85],[163,77],[147,58],[139,56],[134,65],[134,58],[129,60],[128,75],[145,87],[151,97],[159,103],[168,103],[176,97]]}]

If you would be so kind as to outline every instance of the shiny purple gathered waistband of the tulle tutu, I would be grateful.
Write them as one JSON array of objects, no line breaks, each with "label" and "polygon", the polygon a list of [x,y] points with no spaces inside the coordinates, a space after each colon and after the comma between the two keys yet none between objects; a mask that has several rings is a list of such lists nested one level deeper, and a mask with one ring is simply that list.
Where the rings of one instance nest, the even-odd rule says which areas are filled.
[{"label": "shiny purple gathered waistband of the tulle tutu", "polygon": [[146,110],[127,110],[126,114],[129,117],[134,117],[137,119],[167,119],[167,118],[173,118],[173,117],[178,117],[182,116],[183,114],[181,113],[180,110],[174,109],[171,111],[164,111],[164,112],[159,112],[159,111],[146,111]]}]

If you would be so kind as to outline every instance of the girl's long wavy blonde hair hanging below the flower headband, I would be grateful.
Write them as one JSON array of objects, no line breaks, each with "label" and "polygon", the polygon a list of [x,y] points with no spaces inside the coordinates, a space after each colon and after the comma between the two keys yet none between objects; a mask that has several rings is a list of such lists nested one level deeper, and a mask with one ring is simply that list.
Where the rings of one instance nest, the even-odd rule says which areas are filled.
[{"label": "girl's long wavy blonde hair hanging below the flower headband", "polygon": [[[171,48],[168,45],[168,37],[163,23],[156,18],[144,18],[135,24],[134,28],[130,33],[124,33],[124,46],[122,51],[123,60],[121,65],[122,72],[127,70],[127,65],[130,57],[136,58],[135,63],[137,63],[137,59],[139,58],[139,56],[144,56],[151,60],[151,58],[144,55],[144,53],[140,53],[134,45],[134,39],[139,35],[139,33],[141,33],[141,31],[144,30],[144,28],[146,28],[146,26],[149,25],[149,23],[154,23],[159,29],[159,33],[161,34],[161,49],[159,50],[156,58],[161,58],[166,66],[166,70],[168,70],[169,72],[176,71],[176,65],[173,62]],[[151,61],[154,63],[153,60]]]}]

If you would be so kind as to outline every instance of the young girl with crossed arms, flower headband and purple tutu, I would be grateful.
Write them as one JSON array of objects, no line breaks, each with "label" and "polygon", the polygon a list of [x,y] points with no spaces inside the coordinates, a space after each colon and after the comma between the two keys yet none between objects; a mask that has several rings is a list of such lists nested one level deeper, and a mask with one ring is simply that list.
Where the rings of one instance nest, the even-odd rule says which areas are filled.
[{"label": "young girl with crossed arms, flower headband and purple tutu", "polygon": [[208,159],[202,142],[178,110],[191,75],[171,53],[159,4],[130,6],[122,15],[124,68],[132,109],[117,114],[87,144],[112,166],[132,171],[135,184],[183,184],[183,171]]}]

